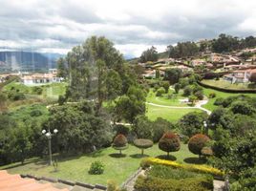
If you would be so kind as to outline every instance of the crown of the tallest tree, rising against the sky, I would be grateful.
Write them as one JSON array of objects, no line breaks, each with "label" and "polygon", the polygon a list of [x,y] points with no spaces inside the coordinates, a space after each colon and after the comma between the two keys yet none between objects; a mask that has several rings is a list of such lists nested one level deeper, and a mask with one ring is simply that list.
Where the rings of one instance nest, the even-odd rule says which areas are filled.
[{"label": "crown of the tallest tree, rising against the sky", "polygon": [[82,45],[74,47],[65,60],[70,76],[67,95],[75,100],[96,98],[100,109],[104,100],[116,98],[123,85],[127,87],[122,55],[105,37],[88,38]]}]

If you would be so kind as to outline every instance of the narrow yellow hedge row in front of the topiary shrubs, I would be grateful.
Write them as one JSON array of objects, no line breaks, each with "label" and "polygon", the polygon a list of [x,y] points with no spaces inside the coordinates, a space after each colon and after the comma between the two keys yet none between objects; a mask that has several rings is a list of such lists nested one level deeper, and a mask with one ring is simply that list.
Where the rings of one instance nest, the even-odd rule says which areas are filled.
[{"label": "narrow yellow hedge row in front of the topiary shrubs", "polygon": [[181,164],[176,161],[170,161],[166,159],[156,159],[156,158],[147,158],[147,159],[142,159],[140,162],[140,166],[142,168],[149,167],[150,165],[154,164],[161,164],[161,165],[167,165],[171,166],[174,168],[182,168],[185,170],[189,170],[192,172],[198,172],[198,173],[205,173],[205,174],[211,174],[213,176],[218,176],[218,177],[223,177],[224,172],[211,167],[211,166],[206,166],[206,165],[197,165],[197,164]]}]

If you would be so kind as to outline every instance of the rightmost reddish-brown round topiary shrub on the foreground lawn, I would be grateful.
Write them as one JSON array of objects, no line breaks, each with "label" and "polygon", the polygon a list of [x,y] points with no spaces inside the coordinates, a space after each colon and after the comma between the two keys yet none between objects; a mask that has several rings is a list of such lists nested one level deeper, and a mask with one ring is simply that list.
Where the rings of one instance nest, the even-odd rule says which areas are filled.
[{"label": "rightmost reddish-brown round topiary shrub on the foreground lawn", "polygon": [[202,155],[202,149],[206,146],[206,143],[210,140],[207,136],[203,134],[197,134],[189,139],[188,141],[188,149],[191,153],[195,155]]}]

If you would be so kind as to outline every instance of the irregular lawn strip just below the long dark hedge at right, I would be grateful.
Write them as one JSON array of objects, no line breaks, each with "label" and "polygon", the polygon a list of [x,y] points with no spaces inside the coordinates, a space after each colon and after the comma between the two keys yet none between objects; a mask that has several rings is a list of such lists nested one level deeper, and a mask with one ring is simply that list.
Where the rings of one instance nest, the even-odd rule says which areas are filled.
[{"label": "irregular lawn strip just below the long dark hedge at right", "polygon": [[226,98],[228,96],[239,96],[239,95],[246,95],[246,96],[254,96],[254,97],[256,97],[256,94],[224,93],[224,92],[220,92],[220,91],[213,90],[213,89],[210,89],[210,88],[203,88],[203,94],[205,96],[209,96],[210,93],[215,93],[216,97],[209,98],[208,103],[203,105],[203,108],[206,108],[206,109],[208,109],[210,111],[213,111],[214,109],[216,109],[218,107],[218,106],[215,106],[213,103],[216,100],[216,98],[219,98],[219,97]]}]

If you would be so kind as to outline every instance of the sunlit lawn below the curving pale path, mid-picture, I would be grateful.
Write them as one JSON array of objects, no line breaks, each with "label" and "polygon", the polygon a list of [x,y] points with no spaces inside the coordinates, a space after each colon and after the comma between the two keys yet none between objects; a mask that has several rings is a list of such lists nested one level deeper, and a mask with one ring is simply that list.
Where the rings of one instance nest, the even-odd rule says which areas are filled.
[{"label": "sunlit lawn below the curving pale path, mid-picture", "polygon": [[147,107],[147,112],[146,116],[150,120],[155,120],[158,117],[165,118],[171,122],[177,122],[181,117],[186,115],[189,112],[201,112],[199,109],[194,109],[194,108],[179,108],[179,109],[174,109],[174,108],[162,108],[162,107],[157,107],[153,105],[146,105]]}]

